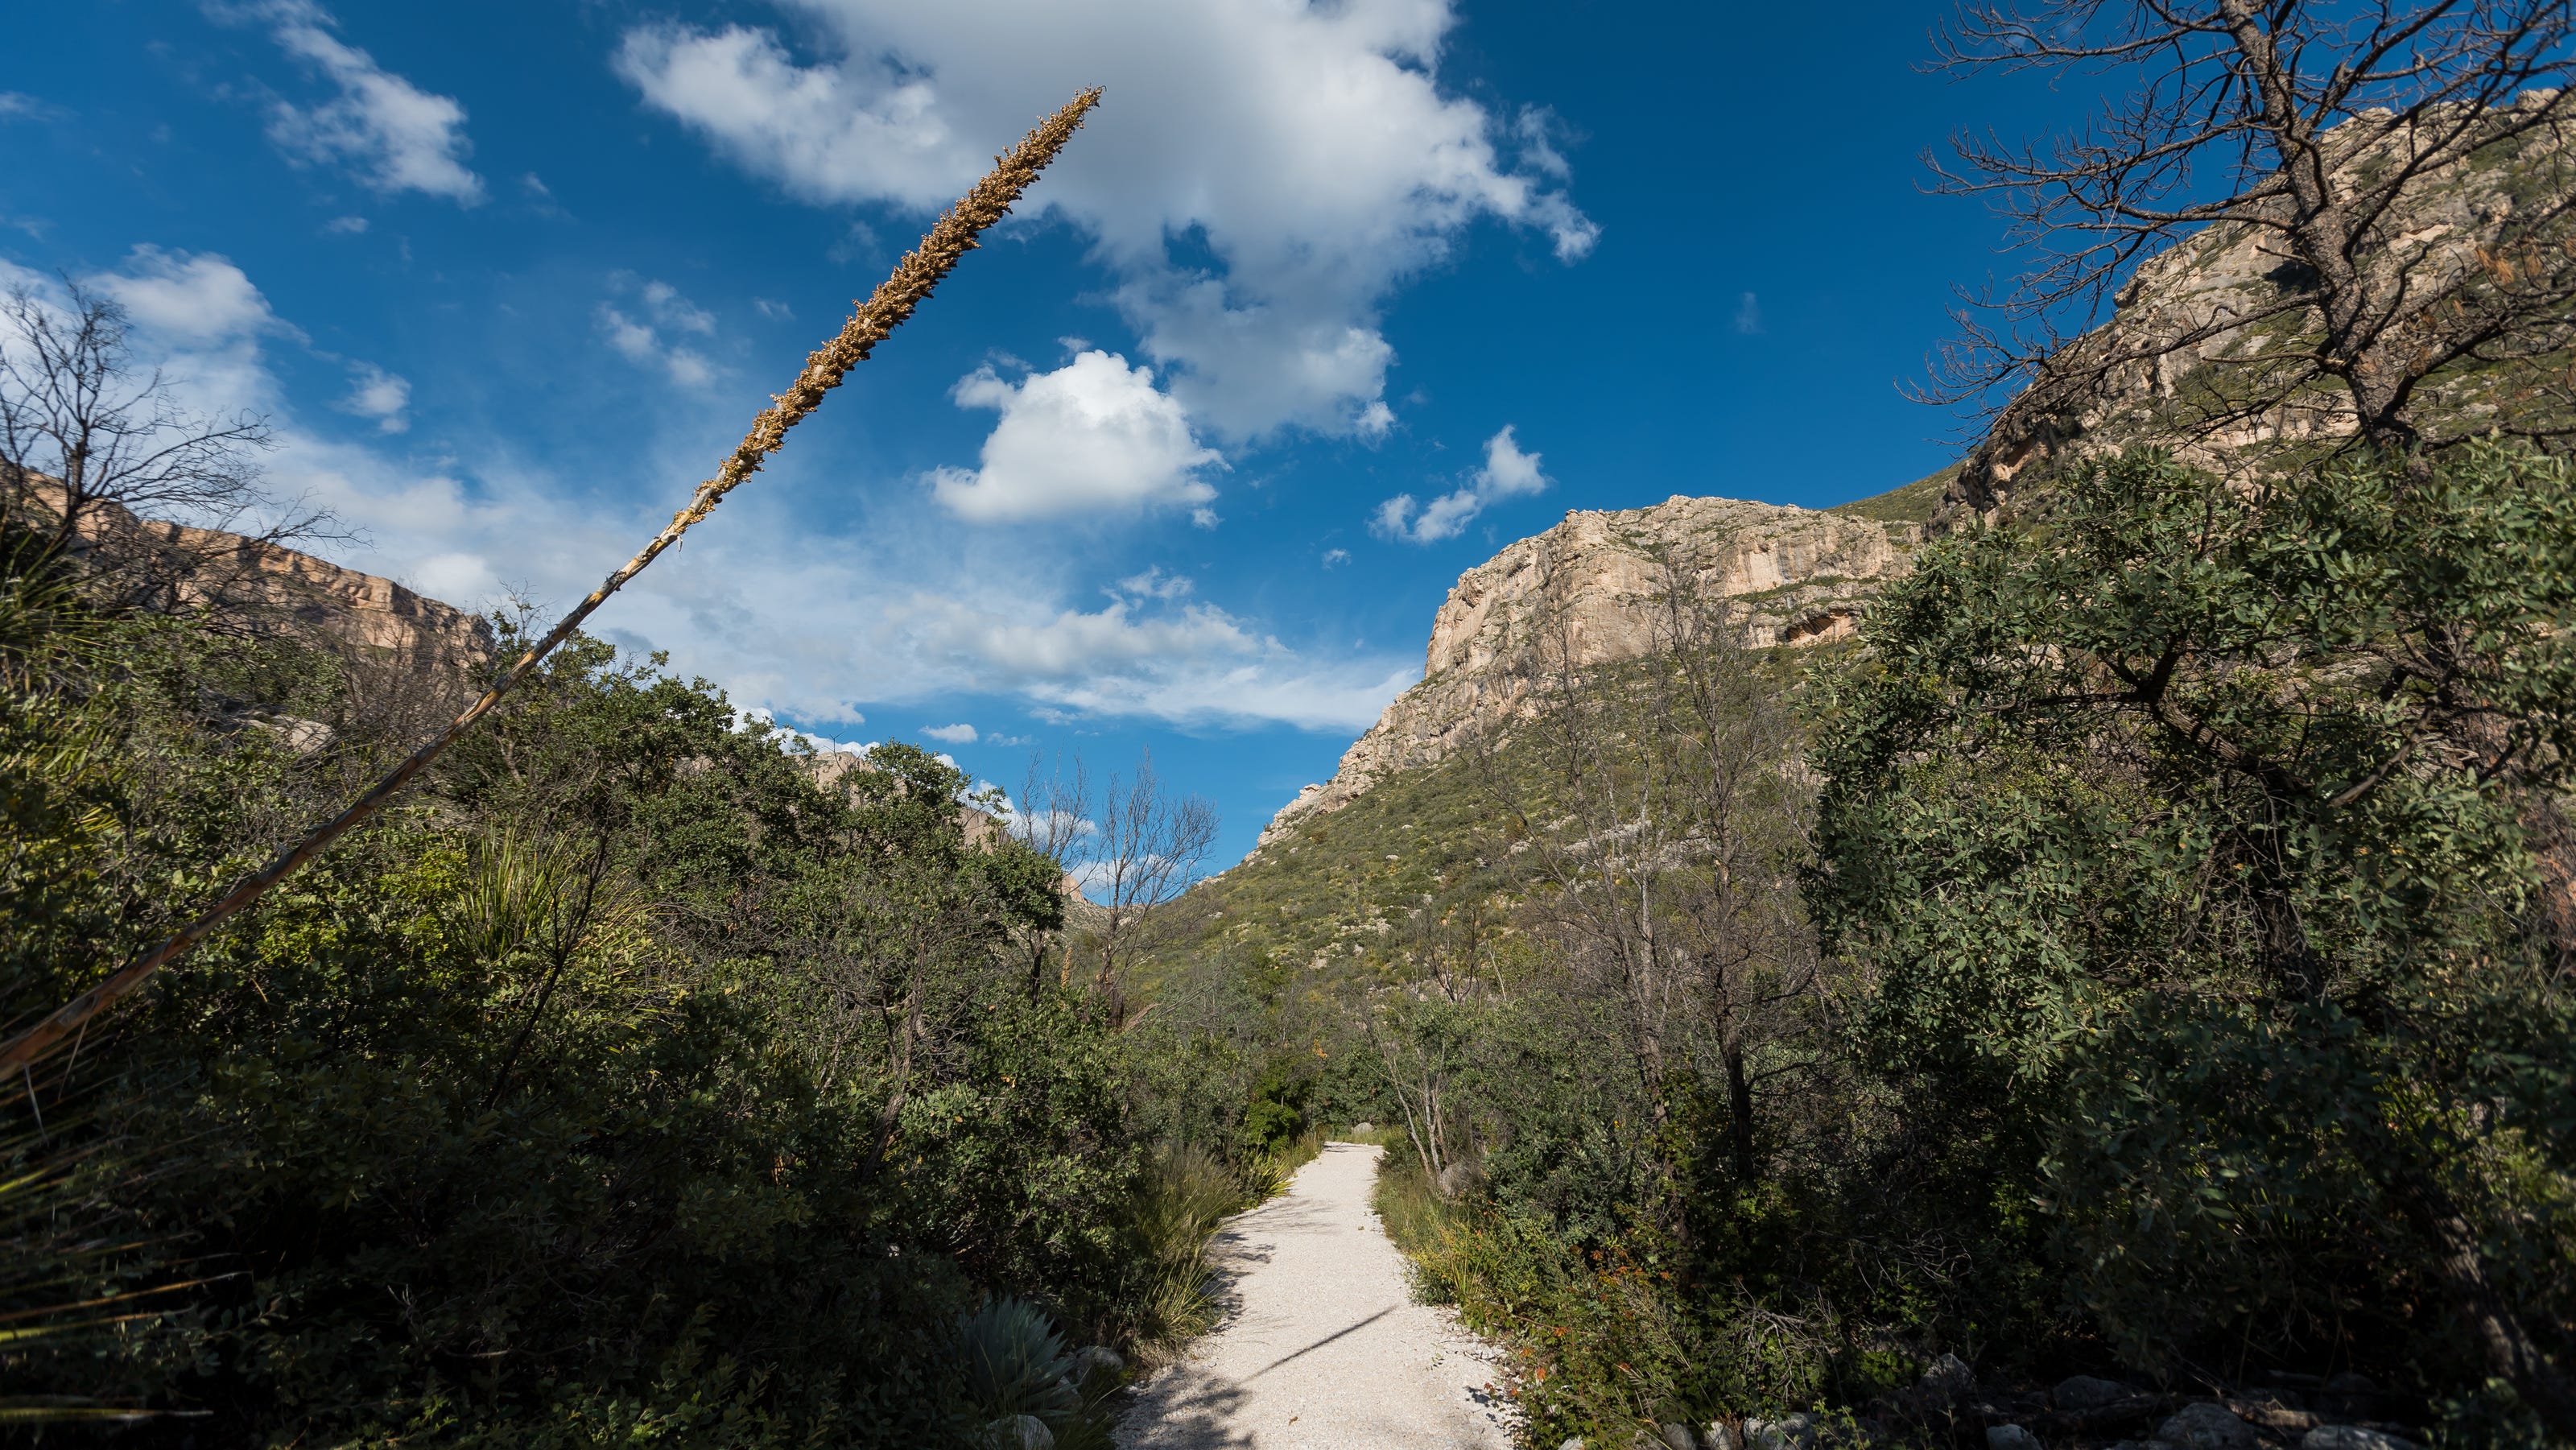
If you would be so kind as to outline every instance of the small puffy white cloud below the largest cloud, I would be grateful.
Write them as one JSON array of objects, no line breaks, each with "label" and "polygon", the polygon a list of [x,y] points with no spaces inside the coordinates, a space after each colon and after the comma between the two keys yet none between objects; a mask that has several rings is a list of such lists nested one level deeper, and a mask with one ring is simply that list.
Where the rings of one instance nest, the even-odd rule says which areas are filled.
[{"label": "small puffy white cloud below the largest cloud", "polygon": [[974,471],[938,469],[930,489],[966,520],[1128,513],[1154,505],[1206,505],[1216,489],[1198,476],[1224,456],[1200,448],[1154,371],[1115,353],[1002,381],[989,366],[956,386],[958,407],[1002,412]]}]

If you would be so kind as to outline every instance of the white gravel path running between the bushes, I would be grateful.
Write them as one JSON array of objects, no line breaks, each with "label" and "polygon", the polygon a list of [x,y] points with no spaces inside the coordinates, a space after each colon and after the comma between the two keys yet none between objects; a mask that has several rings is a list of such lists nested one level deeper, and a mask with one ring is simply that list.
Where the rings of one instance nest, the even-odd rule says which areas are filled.
[{"label": "white gravel path running between the bushes", "polygon": [[1324,1144],[1285,1195],[1218,1229],[1226,1319],[1136,1388],[1121,1450],[1510,1450],[1499,1355],[1412,1303],[1368,1210],[1378,1154]]}]

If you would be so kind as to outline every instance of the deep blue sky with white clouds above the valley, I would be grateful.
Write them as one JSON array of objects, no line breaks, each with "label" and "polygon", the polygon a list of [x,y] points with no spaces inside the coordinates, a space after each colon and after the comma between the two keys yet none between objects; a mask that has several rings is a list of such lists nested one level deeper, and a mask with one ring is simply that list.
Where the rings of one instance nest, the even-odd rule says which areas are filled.
[{"label": "deep blue sky with white clouds above the valley", "polygon": [[[121,296],[276,422],[317,551],[562,605],[994,149],[1095,124],[752,487],[595,621],[835,742],[1015,786],[1151,749],[1236,858],[1571,507],[1834,505],[2009,263],[1919,193],[2030,90],[1929,3],[348,0],[31,8],[0,270]],[[1819,33],[1819,26],[1829,33]]]}]

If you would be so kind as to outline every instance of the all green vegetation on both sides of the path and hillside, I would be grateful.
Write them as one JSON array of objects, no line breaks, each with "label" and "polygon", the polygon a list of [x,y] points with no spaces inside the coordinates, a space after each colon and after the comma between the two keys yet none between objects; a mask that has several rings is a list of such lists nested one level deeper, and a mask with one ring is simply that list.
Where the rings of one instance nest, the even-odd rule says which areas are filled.
[{"label": "all green vegetation on both sides of the path and hillside", "polygon": [[[2566,461],[2249,492],[2138,456],[2050,500],[1927,549],[1795,708],[1672,590],[1638,670],[1561,667],[1512,742],[1149,922],[1123,1028],[1033,950],[1082,950],[1054,863],[969,840],[935,757],[827,791],[580,646],[57,1059],[0,1190],[46,1270],[0,1293],[54,1326],[10,1391],[201,1417],[142,1440],[963,1442],[1018,1391],[925,1324],[1005,1293],[1170,1352],[1216,1218],[1370,1118],[1538,1442],[1945,1437],[1909,1393],[1942,1352],[2365,1370],[2452,1442],[2545,1440]],[[392,747],[322,654],[0,603],[10,1012]]]}]

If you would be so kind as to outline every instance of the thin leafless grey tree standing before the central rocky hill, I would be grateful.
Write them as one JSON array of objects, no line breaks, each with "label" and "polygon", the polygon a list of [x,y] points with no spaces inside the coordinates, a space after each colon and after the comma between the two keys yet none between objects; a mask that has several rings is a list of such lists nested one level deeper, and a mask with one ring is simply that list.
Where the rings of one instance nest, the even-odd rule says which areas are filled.
[{"label": "thin leafless grey tree standing before the central rocky hill", "polygon": [[1538,621],[1528,755],[1476,749],[1486,788],[1530,822],[1546,925],[1618,1007],[1638,1095],[1662,1123],[1672,1074],[1723,1082],[1731,1167],[1749,1182],[1757,1089],[1798,1069],[1780,1048],[1816,984],[1788,878],[1808,788],[1780,664],[1690,567],[1667,551],[1656,569],[1646,654],[1597,659],[1571,621]]}]

